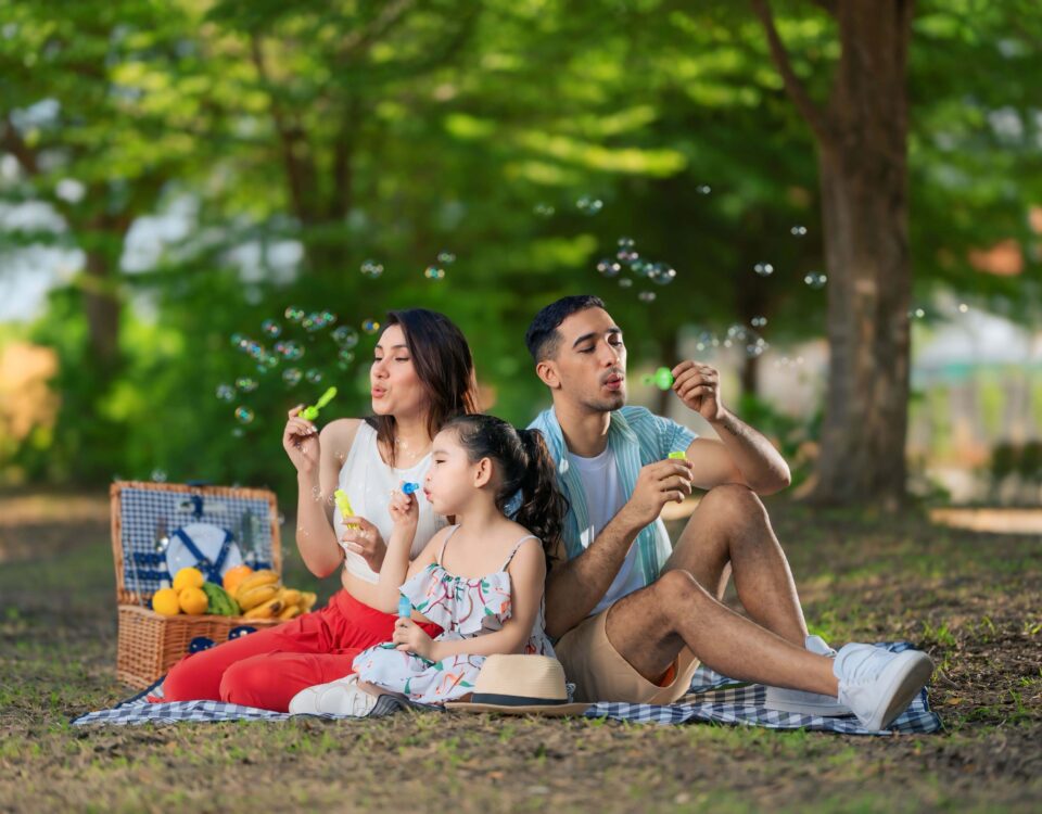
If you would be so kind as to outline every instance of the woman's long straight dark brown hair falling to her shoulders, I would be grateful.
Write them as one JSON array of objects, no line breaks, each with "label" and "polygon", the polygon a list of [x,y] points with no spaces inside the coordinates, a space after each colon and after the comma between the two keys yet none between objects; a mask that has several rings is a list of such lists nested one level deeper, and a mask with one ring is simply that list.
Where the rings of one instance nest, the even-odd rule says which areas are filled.
[{"label": "woman's long straight dark brown hair falling to her shoulders", "polygon": [[[401,326],[412,367],[427,391],[430,410],[427,431],[433,438],[448,419],[478,412],[478,380],[474,359],[463,332],[444,314],[427,308],[387,311],[387,328]],[[386,328],[384,329],[386,330]],[[370,416],[366,421],[387,450],[394,466],[396,430],[394,416]]]}]

